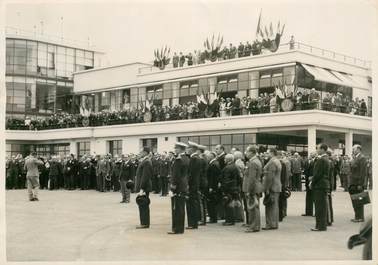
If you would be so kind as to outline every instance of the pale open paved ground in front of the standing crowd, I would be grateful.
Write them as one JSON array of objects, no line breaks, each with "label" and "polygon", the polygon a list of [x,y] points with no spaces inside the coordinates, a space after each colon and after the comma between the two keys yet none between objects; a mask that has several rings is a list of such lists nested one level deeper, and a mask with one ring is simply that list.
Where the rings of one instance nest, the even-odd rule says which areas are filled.
[{"label": "pale open paved ground in front of the standing crowd", "polygon": [[[121,260],[358,260],[361,247],[348,250],[360,224],[350,222],[352,207],[344,192],[333,195],[335,223],[311,232],[312,217],[302,217],[304,192],[293,192],[288,217],[279,230],[244,233],[240,224],[211,224],[184,235],[170,230],[170,199],[152,196],[151,228],[136,230],[138,212],[120,204],[117,192],[41,191],[29,202],[25,190],[6,193],[8,261]],[[263,207],[262,207],[263,208]],[[371,213],[371,205],[366,207]],[[263,210],[263,209],[262,209]],[[262,211],[263,212],[263,211]],[[262,213],[264,222],[264,213]]]}]

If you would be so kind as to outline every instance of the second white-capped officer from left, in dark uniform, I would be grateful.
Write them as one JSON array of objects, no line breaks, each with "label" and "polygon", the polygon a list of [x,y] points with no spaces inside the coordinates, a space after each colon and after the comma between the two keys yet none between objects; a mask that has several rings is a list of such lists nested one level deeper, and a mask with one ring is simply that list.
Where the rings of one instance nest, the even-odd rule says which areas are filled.
[{"label": "second white-capped officer from left, in dark uniform", "polygon": [[200,219],[199,185],[201,175],[201,160],[197,154],[198,144],[188,141],[189,159],[189,199],[186,204],[188,214],[187,229],[197,229]]}]

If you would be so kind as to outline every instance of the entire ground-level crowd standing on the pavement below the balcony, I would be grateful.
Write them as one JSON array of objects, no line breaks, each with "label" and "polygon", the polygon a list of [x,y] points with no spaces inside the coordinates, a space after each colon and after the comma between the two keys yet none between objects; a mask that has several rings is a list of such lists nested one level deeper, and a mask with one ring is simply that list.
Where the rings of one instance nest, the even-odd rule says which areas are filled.
[{"label": "entire ground-level crowd standing on the pavement below the balcony", "polygon": [[[352,158],[334,155],[324,144],[317,152],[306,158],[252,145],[244,154],[237,148],[226,153],[222,145],[209,151],[193,142],[176,143],[175,151],[169,153],[153,154],[146,147],[140,154],[114,157],[47,158],[32,152],[25,159],[18,155],[7,160],[6,187],[22,189],[26,185],[31,201],[38,200],[39,189],[120,192],[121,203],[129,203],[130,193],[137,192],[141,218],[138,228],[150,225],[149,193],[171,193],[172,233],[176,234],[184,232],[185,205],[188,229],[225,220],[224,225],[245,222],[246,232],[260,231],[260,198],[266,213],[263,229],[278,229],[278,223],[287,215],[291,191],[302,191],[304,183],[303,215],[313,216],[315,209],[316,230],[326,230],[333,222],[331,192],[336,189],[337,177],[351,194],[371,188],[371,159],[361,154],[358,145],[353,147]],[[364,219],[363,208],[355,210],[353,221],[360,222]]]}]

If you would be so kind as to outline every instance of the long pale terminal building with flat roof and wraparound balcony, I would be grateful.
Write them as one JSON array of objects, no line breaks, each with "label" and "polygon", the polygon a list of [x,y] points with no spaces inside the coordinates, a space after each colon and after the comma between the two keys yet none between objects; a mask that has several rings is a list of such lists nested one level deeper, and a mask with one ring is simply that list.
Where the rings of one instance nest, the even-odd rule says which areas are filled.
[{"label": "long pale terminal building with flat roof and wraparound balcony", "polygon": [[[15,47],[16,51],[21,42],[26,42],[28,49],[29,40],[7,39],[7,60],[10,48]],[[31,45],[34,44],[31,42]],[[36,45],[39,54],[40,44]],[[49,78],[49,69],[55,64],[55,60],[60,58],[59,53],[56,58],[51,58],[50,44],[43,49],[46,50],[47,79],[41,86],[40,93],[60,95],[59,91],[65,93],[63,91],[67,90],[73,101],[76,100],[81,105],[85,102],[91,112],[138,108],[151,98],[153,104],[161,106],[196,101],[197,96],[201,94],[209,95],[210,98],[218,95],[232,98],[236,94],[240,98],[257,98],[264,93],[273,93],[277,85],[285,84],[288,90],[302,93],[315,88],[320,99],[329,93],[341,93],[343,97],[351,99],[364,99],[367,103],[367,113],[362,116],[327,111],[321,104],[317,104],[316,107],[306,110],[293,111],[288,106],[281,112],[231,117],[82,126],[42,131],[7,130],[7,155],[27,153],[31,149],[41,155],[114,155],[138,153],[144,146],[151,147],[155,152],[163,152],[171,151],[176,141],[188,140],[198,142],[209,149],[222,144],[226,150],[231,147],[244,150],[249,144],[258,144],[266,147],[276,146],[280,150],[296,151],[303,155],[314,151],[319,142],[328,144],[337,153],[350,155],[352,145],[359,143],[363,146],[363,153],[371,155],[372,152],[372,80],[371,65],[367,61],[295,43],[294,46],[281,45],[275,53],[266,52],[180,68],[167,67],[163,70],[139,62],[93,69],[86,68],[84,64],[84,69],[79,67],[74,71],[71,71],[72,68],[67,70],[65,66],[67,75],[73,72],[72,80],[70,77],[64,80],[65,87],[67,83],[70,87],[73,84],[73,87],[72,90],[64,90],[59,88],[63,81],[58,75]],[[55,49],[59,51],[59,46]],[[76,54],[74,60],[78,60],[81,51],[73,50]],[[83,52],[84,62],[89,63],[89,60],[86,60],[89,51]],[[66,56],[69,53],[72,53],[71,48],[65,47]],[[96,56],[96,53],[92,51],[92,55]],[[92,60],[93,56],[90,57]],[[69,60],[65,58],[65,62]],[[11,88],[8,89],[8,83],[20,77],[18,73],[15,75],[14,70],[11,72],[8,69],[10,65],[7,64],[7,92],[11,91]],[[59,65],[57,63],[57,67]],[[38,71],[44,71],[38,67],[35,74],[39,76],[33,77],[37,82],[42,75]],[[26,77],[23,76],[24,72],[21,75],[28,81],[32,77],[29,77],[27,69],[28,66]],[[55,83],[49,85],[51,80],[55,80]],[[14,87],[14,83],[12,86]],[[33,89],[33,86],[31,87]],[[36,93],[39,91],[38,87],[37,84]],[[15,91],[15,88],[12,89]],[[7,95],[7,115],[20,115],[23,111],[18,111],[11,103],[15,100],[16,97]],[[39,102],[38,97],[34,101],[32,99],[29,103],[26,102],[25,111],[30,106],[41,105]],[[51,100],[51,104],[45,102],[42,109],[45,113],[54,113],[62,108],[60,102],[59,99]]]}]

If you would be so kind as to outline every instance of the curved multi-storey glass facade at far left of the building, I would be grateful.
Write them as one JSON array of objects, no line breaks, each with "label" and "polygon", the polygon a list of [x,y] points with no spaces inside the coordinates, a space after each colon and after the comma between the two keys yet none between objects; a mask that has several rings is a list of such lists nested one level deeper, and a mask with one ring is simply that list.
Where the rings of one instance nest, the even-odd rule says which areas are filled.
[{"label": "curved multi-storey glass facade at far left of the building", "polygon": [[7,38],[7,117],[22,119],[76,111],[72,73],[93,66],[93,51]]}]

